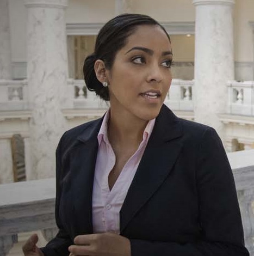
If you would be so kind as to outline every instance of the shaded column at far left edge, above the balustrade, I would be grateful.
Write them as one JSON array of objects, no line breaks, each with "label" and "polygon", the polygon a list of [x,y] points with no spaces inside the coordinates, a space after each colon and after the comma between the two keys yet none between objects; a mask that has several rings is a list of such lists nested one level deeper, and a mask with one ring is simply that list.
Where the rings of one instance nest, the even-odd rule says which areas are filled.
[{"label": "shaded column at far left edge, above the balustrade", "polygon": [[0,80],[11,79],[10,19],[8,0],[0,0]]}]

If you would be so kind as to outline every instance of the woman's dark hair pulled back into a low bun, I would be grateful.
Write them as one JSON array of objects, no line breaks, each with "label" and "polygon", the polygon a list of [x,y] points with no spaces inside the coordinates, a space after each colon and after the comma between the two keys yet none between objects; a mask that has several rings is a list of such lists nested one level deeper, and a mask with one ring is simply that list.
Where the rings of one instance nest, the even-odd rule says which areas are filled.
[{"label": "woman's dark hair pulled back into a low bun", "polygon": [[150,16],[142,14],[121,14],[108,21],[98,33],[94,53],[85,58],[83,73],[86,87],[95,91],[103,100],[109,100],[108,87],[103,87],[97,80],[94,64],[97,59],[103,60],[106,69],[111,69],[115,55],[125,44],[129,35],[140,25],[157,25],[170,37],[165,28]]}]

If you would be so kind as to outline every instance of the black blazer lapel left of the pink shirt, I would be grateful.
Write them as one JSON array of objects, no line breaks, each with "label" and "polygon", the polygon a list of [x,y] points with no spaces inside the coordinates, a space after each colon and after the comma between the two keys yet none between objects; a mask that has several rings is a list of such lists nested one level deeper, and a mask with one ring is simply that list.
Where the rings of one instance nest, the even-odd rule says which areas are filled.
[{"label": "black blazer lapel left of the pink shirt", "polygon": [[90,125],[77,139],[70,154],[73,228],[76,235],[92,233],[92,187],[97,157],[97,134],[102,118]]}]

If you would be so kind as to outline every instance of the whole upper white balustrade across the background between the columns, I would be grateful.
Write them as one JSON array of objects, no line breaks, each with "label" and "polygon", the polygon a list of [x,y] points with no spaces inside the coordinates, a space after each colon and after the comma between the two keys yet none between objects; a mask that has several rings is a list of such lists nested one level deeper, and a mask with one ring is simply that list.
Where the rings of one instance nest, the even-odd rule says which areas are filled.
[{"label": "whole upper white balustrade across the background between the columns", "polygon": [[[193,111],[195,81],[174,79],[165,104],[175,111]],[[254,115],[254,81],[228,82],[227,113]],[[83,80],[69,79],[62,109],[105,109],[107,103],[90,92]],[[29,110],[27,80],[0,80],[0,111]]]}]

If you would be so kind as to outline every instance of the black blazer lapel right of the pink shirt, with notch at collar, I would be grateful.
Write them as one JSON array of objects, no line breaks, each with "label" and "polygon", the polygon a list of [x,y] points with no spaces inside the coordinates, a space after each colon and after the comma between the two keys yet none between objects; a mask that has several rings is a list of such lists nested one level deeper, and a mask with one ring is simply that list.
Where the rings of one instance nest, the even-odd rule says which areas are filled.
[{"label": "black blazer lapel right of the pink shirt, with notch at collar", "polygon": [[169,175],[181,151],[176,139],[181,135],[178,118],[163,105],[120,211],[121,233]]}]

